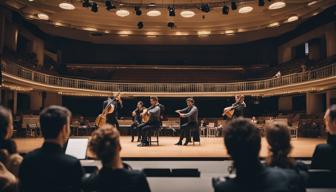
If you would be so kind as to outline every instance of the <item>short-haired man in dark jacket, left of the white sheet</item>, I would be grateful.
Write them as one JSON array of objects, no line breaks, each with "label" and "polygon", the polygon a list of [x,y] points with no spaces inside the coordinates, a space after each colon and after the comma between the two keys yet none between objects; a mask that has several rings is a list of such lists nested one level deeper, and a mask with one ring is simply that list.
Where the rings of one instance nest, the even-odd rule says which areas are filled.
[{"label": "short-haired man in dark jacket, left of the white sheet", "polygon": [[24,157],[19,171],[20,191],[81,191],[81,164],[63,150],[70,135],[70,116],[67,108],[55,105],[41,112],[44,143]]}]

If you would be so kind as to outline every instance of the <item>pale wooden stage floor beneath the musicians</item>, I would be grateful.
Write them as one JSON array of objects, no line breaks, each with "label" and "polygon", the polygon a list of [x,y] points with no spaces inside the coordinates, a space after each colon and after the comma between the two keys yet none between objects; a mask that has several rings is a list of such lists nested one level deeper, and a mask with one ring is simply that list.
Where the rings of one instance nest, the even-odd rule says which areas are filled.
[{"label": "pale wooden stage floor beneath the musicians", "polygon": [[[160,137],[160,146],[137,147],[128,136],[121,137],[122,157],[124,158],[227,158],[223,138],[201,138],[201,145],[175,146],[177,137]],[[42,138],[16,138],[20,153],[26,153],[41,146]],[[292,139],[292,157],[310,158],[315,146],[325,143],[324,139],[298,138]],[[262,139],[261,157],[267,156],[268,144]],[[88,154],[89,155],[89,154]]]}]

